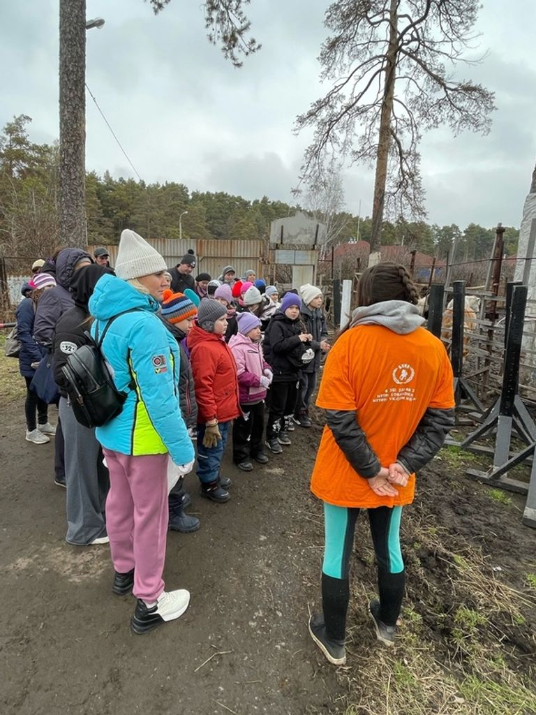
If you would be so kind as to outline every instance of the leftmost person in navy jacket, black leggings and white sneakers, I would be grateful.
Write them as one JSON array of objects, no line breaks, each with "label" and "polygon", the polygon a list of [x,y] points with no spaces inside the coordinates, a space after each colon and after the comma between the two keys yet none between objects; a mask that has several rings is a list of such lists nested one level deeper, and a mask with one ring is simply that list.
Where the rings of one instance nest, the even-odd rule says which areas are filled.
[{"label": "leftmost person in navy jacket, black leggings and white sneakers", "polygon": [[[31,294],[31,285],[24,283],[21,287],[22,295],[26,295],[28,290]],[[50,441],[46,436],[46,432],[49,431],[49,433],[54,434],[54,428],[49,424],[49,405],[30,390],[31,378],[35,374],[35,369],[32,368],[32,365],[36,365],[44,357],[44,350],[34,340],[35,307],[31,297],[24,297],[21,300],[15,315],[16,332],[21,343],[19,370],[26,381],[26,400],[24,401],[26,440],[34,444],[45,444]],[[39,428],[43,428],[44,432],[41,432]]]}]

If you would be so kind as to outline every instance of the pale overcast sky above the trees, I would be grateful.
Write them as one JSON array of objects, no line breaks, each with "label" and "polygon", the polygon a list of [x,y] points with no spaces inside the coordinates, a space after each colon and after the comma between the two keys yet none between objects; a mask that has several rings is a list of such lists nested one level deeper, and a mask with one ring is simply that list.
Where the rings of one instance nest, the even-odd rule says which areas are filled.
[{"label": "pale overcast sky above the trees", "polygon": [[[259,53],[234,69],[205,39],[200,0],[172,0],[154,16],[143,0],[87,0],[86,80],[147,182],[247,199],[292,202],[309,137],[294,119],[322,95],[317,56],[328,0],[252,0]],[[428,220],[520,225],[536,159],[535,0],[483,0],[478,29],[485,62],[472,79],[496,94],[487,137],[430,132],[422,142]],[[515,11],[514,11],[515,7]],[[1,126],[29,114],[36,142],[58,137],[59,0],[0,4]],[[135,177],[87,97],[86,168]],[[347,209],[372,206],[372,174],[345,174]]]}]

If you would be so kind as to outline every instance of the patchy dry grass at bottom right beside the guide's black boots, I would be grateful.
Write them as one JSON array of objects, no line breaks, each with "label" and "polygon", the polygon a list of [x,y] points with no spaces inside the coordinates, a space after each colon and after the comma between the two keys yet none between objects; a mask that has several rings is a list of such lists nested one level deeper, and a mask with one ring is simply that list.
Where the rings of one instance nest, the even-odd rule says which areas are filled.
[{"label": "patchy dry grass at bottom right beside the guide's black boots", "polygon": [[[344,715],[535,715],[535,635],[523,628],[522,615],[536,608],[534,591],[528,583],[525,591],[502,583],[461,536],[430,526],[419,513],[405,516],[412,605],[402,610],[394,649],[372,641],[364,604],[375,590],[374,558],[364,546],[366,529],[358,529],[358,558],[371,586],[363,593],[358,585],[352,594],[359,611],[350,618],[350,665],[339,669],[349,691]],[[435,560],[431,571],[419,553]],[[512,645],[520,634],[532,659]]]}]

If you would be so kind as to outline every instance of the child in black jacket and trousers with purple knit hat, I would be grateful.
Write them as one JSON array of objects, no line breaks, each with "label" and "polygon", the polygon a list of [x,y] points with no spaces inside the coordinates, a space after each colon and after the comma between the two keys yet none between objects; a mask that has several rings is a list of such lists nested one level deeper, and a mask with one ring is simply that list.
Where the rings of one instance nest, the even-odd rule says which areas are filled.
[{"label": "child in black jacket and trousers with purple knit hat", "polygon": [[302,368],[314,358],[314,352],[307,345],[312,335],[303,332],[299,320],[301,305],[302,301],[295,293],[284,295],[281,307],[264,332],[264,356],[274,373],[267,397],[266,428],[267,447],[274,454],[282,453],[281,445],[291,444],[285,429],[285,415],[294,414]]}]

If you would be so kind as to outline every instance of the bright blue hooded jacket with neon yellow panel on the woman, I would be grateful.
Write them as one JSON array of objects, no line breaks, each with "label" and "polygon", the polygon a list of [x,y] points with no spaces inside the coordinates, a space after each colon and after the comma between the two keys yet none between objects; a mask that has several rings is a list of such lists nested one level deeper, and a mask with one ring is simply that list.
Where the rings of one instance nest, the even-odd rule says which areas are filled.
[{"label": "bright blue hooded jacket with neon yellow panel on the woman", "polygon": [[96,438],[103,447],[129,455],[165,454],[175,464],[194,459],[179,407],[179,346],[157,317],[159,304],[114,275],[97,282],[89,300],[96,320],[96,337],[106,322],[124,310],[109,327],[102,352],[114,374],[118,390],[127,393],[123,410],[103,427]]}]

